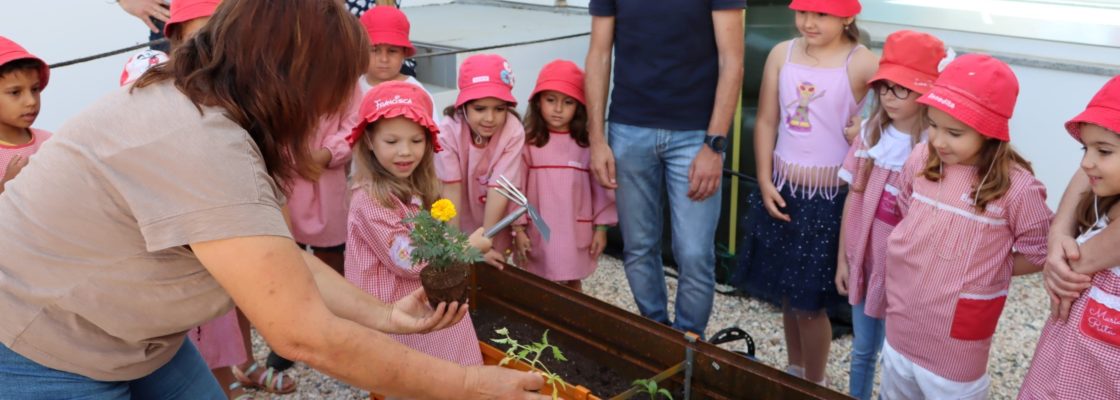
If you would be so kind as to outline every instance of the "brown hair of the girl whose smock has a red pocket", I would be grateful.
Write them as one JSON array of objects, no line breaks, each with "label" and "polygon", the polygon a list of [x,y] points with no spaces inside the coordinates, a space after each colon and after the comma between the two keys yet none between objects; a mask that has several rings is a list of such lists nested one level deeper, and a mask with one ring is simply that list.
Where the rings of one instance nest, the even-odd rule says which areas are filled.
[{"label": "brown hair of the girl whose smock has a red pocket", "polygon": [[[932,182],[937,182],[942,177],[941,157],[937,156],[932,141],[928,146],[930,157],[925,161],[925,169],[922,171],[922,176]],[[995,202],[1007,194],[1007,190],[1011,188],[1011,174],[1015,171],[1016,166],[1021,167],[1032,175],[1035,174],[1034,169],[1030,168],[1030,161],[1027,161],[1027,159],[1015,151],[1011,148],[1011,143],[996,139],[984,140],[976,164],[977,185],[981,186],[974,188],[969,195],[969,197],[977,199],[974,206],[978,213],[983,213],[987,210],[988,203]]]}]

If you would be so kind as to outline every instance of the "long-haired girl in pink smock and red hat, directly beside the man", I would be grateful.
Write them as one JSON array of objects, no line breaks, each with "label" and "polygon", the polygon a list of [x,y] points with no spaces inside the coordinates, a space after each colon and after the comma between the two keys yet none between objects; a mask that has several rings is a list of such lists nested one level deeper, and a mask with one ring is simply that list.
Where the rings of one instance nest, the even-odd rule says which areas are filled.
[{"label": "long-haired girl in pink smock and red hat, directly beside the man", "polygon": [[525,196],[549,222],[551,238],[514,226],[519,266],[581,290],[598,268],[607,229],[618,223],[614,190],[591,179],[584,72],[569,61],[541,69],[525,114]]}]

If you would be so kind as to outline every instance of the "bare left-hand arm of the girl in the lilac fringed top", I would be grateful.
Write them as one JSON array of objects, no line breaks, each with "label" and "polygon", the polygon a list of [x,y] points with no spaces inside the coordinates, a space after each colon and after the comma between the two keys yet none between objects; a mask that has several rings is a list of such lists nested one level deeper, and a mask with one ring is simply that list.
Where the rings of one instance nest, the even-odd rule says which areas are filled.
[{"label": "bare left-hand arm of the girl in the lilac fringed top", "polygon": [[758,190],[763,206],[771,217],[790,222],[790,215],[782,213],[785,201],[772,179],[774,173],[774,146],[777,143],[778,112],[777,76],[785,59],[788,41],[771,49],[763,68],[762,89],[758,91],[758,113],[755,120],[755,168],[758,171]]}]

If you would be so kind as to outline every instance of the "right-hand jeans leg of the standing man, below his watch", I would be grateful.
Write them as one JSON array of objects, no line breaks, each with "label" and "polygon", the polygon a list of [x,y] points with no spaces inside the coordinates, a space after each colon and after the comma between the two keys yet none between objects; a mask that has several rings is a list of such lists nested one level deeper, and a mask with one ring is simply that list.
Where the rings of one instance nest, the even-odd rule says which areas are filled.
[{"label": "right-hand jeans leg of the standing man, below his watch", "polygon": [[703,130],[665,131],[665,185],[673,235],[673,258],[680,267],[673,327],[704,335],[716,295],[716,226],[720,190],[702,201],[689,198],[689,173],[704,146]]}]

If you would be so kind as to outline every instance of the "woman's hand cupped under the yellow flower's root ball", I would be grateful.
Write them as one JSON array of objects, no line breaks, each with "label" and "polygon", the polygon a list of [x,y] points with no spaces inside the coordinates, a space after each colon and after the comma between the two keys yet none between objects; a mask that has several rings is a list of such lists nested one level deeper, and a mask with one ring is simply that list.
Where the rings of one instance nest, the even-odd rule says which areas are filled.
[{"label": "woman's hand cupped under the yellow flower's root ball", "polygon": [[467,315],[469,308],[466,304],[452,301],[440,303],[439,307],[431,309],[423,288],[404,296],[390,307],[389,324],[384,332],[401,335],[429,333],[452,326]]}]

